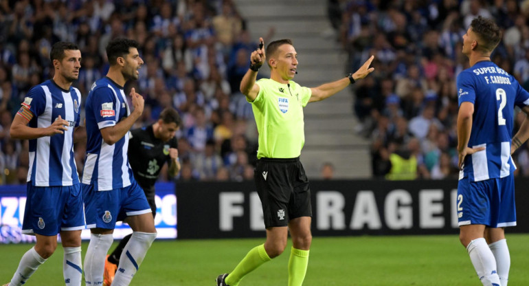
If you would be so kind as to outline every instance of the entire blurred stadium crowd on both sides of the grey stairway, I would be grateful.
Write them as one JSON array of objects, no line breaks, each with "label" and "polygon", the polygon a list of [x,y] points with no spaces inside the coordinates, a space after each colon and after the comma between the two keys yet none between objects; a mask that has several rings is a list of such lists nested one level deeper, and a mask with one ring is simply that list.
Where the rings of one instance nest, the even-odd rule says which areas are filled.
[{"label": "entire blurred stadium crowd on both sides of the grey stairway", "polygon": [[[455,78],[468,65],[462,35],[477,15],[503,29],[493,61],[529,88],[529,0],[328,3],[337,41],[350,55],[346,70],[375,55],[375,72],[352,87],[356,131],[371,140],[373,177],[458,176]],[[51,45],[80,46],[74,86],[85,99],[109,68],[104,47],[118,36],[137,41],[145,61],[139,80],[125,87],[146,99],[135,127],[155,122],[169,106],[183,118],[179,179],[253,179],[257,134],[238,86],[258,43],[233,0],[0,0],[1,184],[25,183],[27,140],[11,140],[10,123],[30,87],[52,77]],[[75,149],[82,172],[85,144]],[[517,175],[529,175],[529,148],[513,158]]]}]

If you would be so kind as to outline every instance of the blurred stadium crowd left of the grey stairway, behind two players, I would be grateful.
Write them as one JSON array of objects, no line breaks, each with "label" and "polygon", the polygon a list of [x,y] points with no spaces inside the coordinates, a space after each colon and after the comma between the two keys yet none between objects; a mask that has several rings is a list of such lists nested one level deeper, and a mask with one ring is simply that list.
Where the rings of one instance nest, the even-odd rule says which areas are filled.
[{"label": "blurred stadium crowd left of the grey stairway, behind two players", "polygon": [[[146,101],[135,128],[155,122],[165,107],[181,114],[179,179],[253,179],[256,129],[238,85],[258,44],[250,41],[232,0],[2,0],[2,184],[25,184],[27,140],[11,140],[9,129],[27,91],[52,78],[52,44],[79,45],[82,68],[74,87],[85,100],[93,82],[109,69],[106,44],[119,36],[137,41],[145,62],[139,80],[125,87],[126,94],[135,87]],[[75,150],[81,173],[85,143]]]}]

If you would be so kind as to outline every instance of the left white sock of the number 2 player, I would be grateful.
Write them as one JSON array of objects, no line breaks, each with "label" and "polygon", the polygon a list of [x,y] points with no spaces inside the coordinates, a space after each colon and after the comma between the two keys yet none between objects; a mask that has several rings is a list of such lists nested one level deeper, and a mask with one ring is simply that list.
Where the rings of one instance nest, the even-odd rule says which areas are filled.
[{"label": "left white sock of the number 2 player", "polygon": [[499,286],[496,259],[484,238],[474,239],[466,246],[475,272],[484,286]]}]

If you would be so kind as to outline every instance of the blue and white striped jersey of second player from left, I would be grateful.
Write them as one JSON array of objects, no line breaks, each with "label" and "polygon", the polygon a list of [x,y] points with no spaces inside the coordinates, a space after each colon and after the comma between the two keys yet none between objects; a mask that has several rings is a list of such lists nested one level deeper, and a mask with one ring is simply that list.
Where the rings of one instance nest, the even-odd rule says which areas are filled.
[{"label": "blue and white striped jersey of second player from left", "polygon": [[104,77],[95,81],[86,102],[87,157],[82,184],[95,190],[113,190],[134,181],[128,164],[128,134],[115,144],[106,144],[100,129],[114,126],[131,114],[123,87]]}]

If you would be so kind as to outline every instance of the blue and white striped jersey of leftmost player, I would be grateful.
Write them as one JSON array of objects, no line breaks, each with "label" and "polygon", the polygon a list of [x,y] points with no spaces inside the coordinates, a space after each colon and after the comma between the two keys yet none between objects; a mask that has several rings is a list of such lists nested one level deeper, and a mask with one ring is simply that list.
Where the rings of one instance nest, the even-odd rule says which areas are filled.
[{"label": "blue and white striped jersey of leftmost player", "polygon": [[22,105],[33,113],[28,126],[46,128],[59,115],[69,122],[68,130],[63,134],[30,140],[27,181],[31,181],[32,186],[79,184],[74,158],[74,127],[79,126],[80,102],[81,93],[78,89],[62,89],[52,80],[32,87],[24,98]]}]

